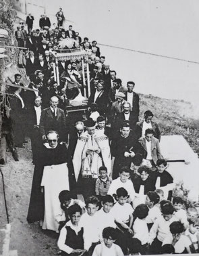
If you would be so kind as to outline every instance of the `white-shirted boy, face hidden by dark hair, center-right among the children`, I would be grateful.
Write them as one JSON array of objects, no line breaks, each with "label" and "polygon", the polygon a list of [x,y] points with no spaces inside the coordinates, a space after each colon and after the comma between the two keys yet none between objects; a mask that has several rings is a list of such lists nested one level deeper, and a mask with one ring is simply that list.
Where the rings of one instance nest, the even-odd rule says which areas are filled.
[{"label": "white-shirted boy, face hidden by dark hair, center-right among the children", "polygon": [[148,251],[148,226],[146,223],[146,217],[148,216],[148,207],[144,204],[138,205],[134,211],[134,238],[138,238],[142,244],[141,254],[147,254]]}]

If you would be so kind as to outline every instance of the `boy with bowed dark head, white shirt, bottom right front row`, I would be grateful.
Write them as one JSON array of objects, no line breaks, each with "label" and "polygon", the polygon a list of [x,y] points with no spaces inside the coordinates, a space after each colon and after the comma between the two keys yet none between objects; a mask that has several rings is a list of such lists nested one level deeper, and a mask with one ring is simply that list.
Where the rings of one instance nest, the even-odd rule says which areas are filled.
[{"label": "boy with bowed dark head, white shirt, bottom right front row", "polygon": [[164,244],[172,244],[175,253],[191,253],[190,245],[192,242],[190,239],[183,235],[184,226],[180,221],[173,221],[169,226],[171,234],[169,234],[164,240]]}]

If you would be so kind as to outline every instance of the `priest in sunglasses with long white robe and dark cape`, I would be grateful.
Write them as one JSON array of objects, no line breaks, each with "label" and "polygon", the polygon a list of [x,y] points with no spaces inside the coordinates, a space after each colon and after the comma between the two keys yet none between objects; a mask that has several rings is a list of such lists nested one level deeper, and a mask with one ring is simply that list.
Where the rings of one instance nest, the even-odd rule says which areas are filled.
[{"label": "priest in sunglasses with long white robe and dark cape", "polygon": [[40,186],[45,193],[45,216],[42,229],[58,232],[59,223],[55,217],[61,211],[59,193],[69,190],[69,170],[67,166],[67,149],[59,144],[58,133],[49,131],[47,143],[44,144],[40,162],[43,165]]}]

